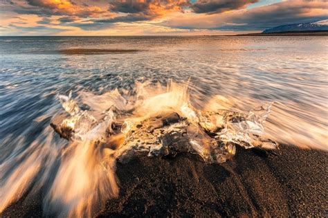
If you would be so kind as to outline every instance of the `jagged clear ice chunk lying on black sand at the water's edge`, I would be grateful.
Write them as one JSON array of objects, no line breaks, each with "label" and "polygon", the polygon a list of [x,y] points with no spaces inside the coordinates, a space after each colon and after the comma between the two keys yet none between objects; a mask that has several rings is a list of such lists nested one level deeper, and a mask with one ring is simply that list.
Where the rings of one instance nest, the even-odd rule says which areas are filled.
[{"label": "jagged clear ice chunk lying on black sand at the water's edge", "polygon": [[[239,113],[226,109],[201,111],[185,102],[178,109],[166,108],[145,117],[111,107],[97,120],[91,111],[78,107],[71,93],[59,97],[62,107],[71,115],[61,124],[62,129],[71,129],[69,139],[110,142],[111,137],[119,138],[113,151],[119,161],[129,159],[136,152],[147,152],[148,156],[192,152],[208,163],[222,163],[235,154],[236,145],[246,149],[277,148],[277,143],[261,138],[272,103]],[[62,132],[58,128],[56,131]]]}]

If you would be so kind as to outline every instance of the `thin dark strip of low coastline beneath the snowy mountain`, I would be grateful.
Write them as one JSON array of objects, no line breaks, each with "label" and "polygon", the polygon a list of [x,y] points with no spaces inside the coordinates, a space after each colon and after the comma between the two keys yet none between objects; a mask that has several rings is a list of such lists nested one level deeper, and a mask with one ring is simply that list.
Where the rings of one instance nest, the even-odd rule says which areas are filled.
[{"label": "thin dark strip of low coastline beneath the snowy mountain", "polygon": [[279,33],[248,33],[236,36],[328,36],[328,30],[286,31]]}]

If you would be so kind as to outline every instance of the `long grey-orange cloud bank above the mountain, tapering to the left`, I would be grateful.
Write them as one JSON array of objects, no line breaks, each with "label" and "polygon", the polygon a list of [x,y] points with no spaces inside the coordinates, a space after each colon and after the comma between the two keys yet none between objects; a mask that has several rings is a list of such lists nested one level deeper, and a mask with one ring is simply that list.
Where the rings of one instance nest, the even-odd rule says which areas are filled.
[{"label": "long grey-orange cloud bank above the mountain, tapering to the left", "polygon": [[206,28],[218,30],[264,30],[283,24],[327,19],[325,1],[284,1],[249,10],[211,15],[177,16],[163,22],[174,28]]}]

